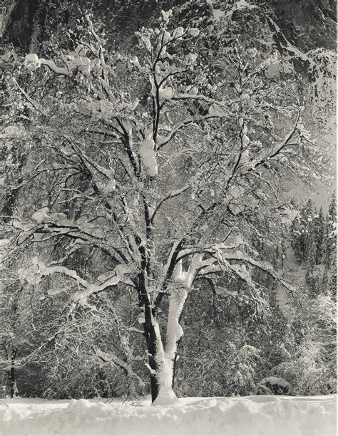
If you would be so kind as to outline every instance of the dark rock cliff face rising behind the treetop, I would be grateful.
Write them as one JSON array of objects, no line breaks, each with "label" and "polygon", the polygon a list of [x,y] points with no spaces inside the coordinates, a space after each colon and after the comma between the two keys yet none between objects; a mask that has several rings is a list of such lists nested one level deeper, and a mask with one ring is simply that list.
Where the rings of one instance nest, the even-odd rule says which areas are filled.
[{"label": "dark rock cliff face rising behind the treetop", "polygon": [[[161,9],[180,6],[186,0],[4,0],[4,10],[11,10],[11,20],[4,39],[27,50],[31,44],[41,43],[44,32],[67,26],[79,9],[91,9],[101,15],[113,34],[129,36],[140,26],[148,24]],[[236,0],[213,0],[224,9]],[[210,4],[210,1],[205,1]],[[334,0],[252,0],[270,7],[285,36],[302,51],[314,48],[334,50],[336,41],[336,8]],[[58,17],[58,21],[56,19]],[[39,31],[36,30],[39,27]],[[55,30],[55,29],[54,29]]]}]

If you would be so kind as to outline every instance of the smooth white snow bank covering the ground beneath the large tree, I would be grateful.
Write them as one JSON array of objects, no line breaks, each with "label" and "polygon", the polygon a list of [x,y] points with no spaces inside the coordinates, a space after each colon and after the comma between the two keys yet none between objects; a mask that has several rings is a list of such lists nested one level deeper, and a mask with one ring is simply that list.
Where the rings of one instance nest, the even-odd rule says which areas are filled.
[{"label": "smooth white snow bank covering the ground beneath the large tree", "polygon": [[6,399],[0,435],[336,435],[336,395],[181,398],[170,406],[103,400]]}]

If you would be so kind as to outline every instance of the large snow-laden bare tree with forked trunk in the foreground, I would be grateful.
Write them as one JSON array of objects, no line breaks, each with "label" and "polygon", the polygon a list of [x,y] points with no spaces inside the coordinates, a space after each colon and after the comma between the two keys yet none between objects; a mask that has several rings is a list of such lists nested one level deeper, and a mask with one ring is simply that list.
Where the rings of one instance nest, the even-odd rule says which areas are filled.
[{"label": "large snow-laden bare tree with forked trunk in the foreground", "polygon": [[[99,311],[101,294],[133,290],[157,404],[177,400],[179,320],[200,279],[236,276],[260,301],[259,270],[293,290],[250,239],[262,237],[262,221],[291,222],[281,180],[310,177],[318,150],[294,83],[270,76],[277,56],[232,41],[217,55],[220,71],[210,71],[193,51],[198,28],[172,28],[170,16],[163,11],[157,27],[136,33],[138,56],[127,56],[108,51],[86,15],[73,51],[29,53],[26,71],[9,78],[34,109],[29,128],[16,130],[29,155],[6,227],[14,253],[38,252],[21,280],[64,279],[47,291],[62,297],[60,334],[79,313]],[[31,201],[20,207],[25,196]],[[91,268],[78,267],[84,257]],[[256,353],[242,350],[248,361]],[[106,360],[104,353],[96,351]]]}]

